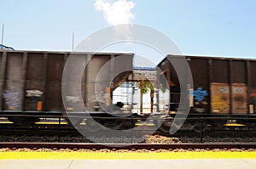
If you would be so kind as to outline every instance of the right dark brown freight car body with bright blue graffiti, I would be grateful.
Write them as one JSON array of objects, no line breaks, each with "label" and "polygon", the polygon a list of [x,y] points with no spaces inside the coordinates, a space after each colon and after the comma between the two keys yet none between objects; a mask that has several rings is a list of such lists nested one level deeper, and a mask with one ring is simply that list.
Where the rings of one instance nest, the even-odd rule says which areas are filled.
[{"label": "right dark brown freight car body with bright blue graffiti", "polygon": [[[256,60],[223,57],[168,55],[158,67],[159,82],[169,87],[169,114],[177,111],[180,103],[180,84],[172,65],[173,58],[186,59],[193,79],[189,83],[187,98],[190,99],[189,115],[254,115],[256,113]],[[183,69],[182,76],[188,74]],[[166,82],[161,82],[161,76]]]}]

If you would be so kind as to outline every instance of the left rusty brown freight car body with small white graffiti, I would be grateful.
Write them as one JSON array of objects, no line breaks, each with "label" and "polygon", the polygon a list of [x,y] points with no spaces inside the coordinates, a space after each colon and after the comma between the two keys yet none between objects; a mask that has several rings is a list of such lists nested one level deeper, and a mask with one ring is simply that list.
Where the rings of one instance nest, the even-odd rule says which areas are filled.
[{"label": "left rusty brown freight car body with small white graffiti", "polygon": [[[95,109],[97,104],[91,103],[91,100],[95,98],[96,93],[93,91],[95,91],[96,76],[103,65],[112,60],[107,70],[105,69],[105,79],[114,73],[113,70],[124,70],[124,68],[126,70],[119,72],[112,79],[112,84],[102,82],[105,85],[103,93],[108,91],[111,95],[113,88],[131,74],[133,54],[0,51],[0,111],[21,114],[64,112],[61,78],[70,54],[79,55],[82,59],[91,57],[80,83],[83,86],[81,87],[83,101],[89,110]],[[119,55],[123,55],[122,62],[115,59]],[[74,102],[74,99],[75,96],[67,96],[67,102]],[[67,109],[76,111],[73,107]],[[20,118],[14,117],[11,120],[18,123]],[[36,119],[30,119],[30,122],[34,121]]]}]

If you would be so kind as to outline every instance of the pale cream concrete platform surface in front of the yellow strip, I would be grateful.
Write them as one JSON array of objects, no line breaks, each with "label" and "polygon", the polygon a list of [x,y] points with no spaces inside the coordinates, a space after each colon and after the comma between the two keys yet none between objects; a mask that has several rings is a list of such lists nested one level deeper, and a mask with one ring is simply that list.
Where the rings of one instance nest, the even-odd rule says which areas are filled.
[{"label": "pale cream concrete platform surface in front of the yellow strip", "polygon": [[17,169],[80,169],[80,168],[196,168],[196,169],[255,169],[256,160],[198,159],[198,160],[3,160],[0,168]]}]

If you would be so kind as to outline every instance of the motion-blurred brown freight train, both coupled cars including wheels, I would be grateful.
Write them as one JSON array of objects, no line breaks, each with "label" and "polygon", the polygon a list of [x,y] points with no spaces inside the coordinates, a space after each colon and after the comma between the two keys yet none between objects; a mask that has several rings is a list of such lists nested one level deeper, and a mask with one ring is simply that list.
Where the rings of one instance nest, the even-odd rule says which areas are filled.
[{"label": "motion-blurred brown freight train, both coupled cars including wheels", "polygon": [[[78,60],[67,64],[71,55]],[[119,56],[122,56],[121,59]],[[65,117],[68,112],[70,117],[78,115],[85,107],[90,116],[104,127],[124,129],[148,124],[148,127],[159,126],[160,131],[169,132],[178,107],[184,104],[180,100],[181,86],[185,85],[188,100],[185,104],[189,104],[189,115],[181,129],[196,131],[199,128],[229,125],[256,126],[250,120],[256,112],[256,60],[166,56],[157,66],[156,81],[148,81],[155,93],[151,94],[151,100],[156,100],[151,103],[155,110],[148,115],[133,112],[132,100],[126,105],[112,102],[113,91],[123,82],[142,83],[139,79],[133,79],[133,56],[117,53],[1,51],[1,116],[7,115],[15,125],[32,125],[39,121],[38,115],[61,114]],[[186,59],[189,69],[183,69],[183,78],[191,72],[193,84],[180,84],[170,58]],[[76,65],[80,62],[86,63],[82,73],[76,71]],[[69,69],[63,82],[65,66]],[[143,79],[143,82],[147,82],[147,79]],[[67,88],[64,96],[63,86]],[[157,98],[161,90],[169,93],[165,109],[160,109],[160,99]],[[156,99],[152,99],[153,96]],[[214,121],[215,117],[227,120]],[[149,123],[143,123],[147,118],[151,118],[147,121]],[[201,118],[207,120],[202,122]],[[97,128],[95,124],[90,125],[88,116],[69,119],[77,124],[86,121],[89,130]]]}]

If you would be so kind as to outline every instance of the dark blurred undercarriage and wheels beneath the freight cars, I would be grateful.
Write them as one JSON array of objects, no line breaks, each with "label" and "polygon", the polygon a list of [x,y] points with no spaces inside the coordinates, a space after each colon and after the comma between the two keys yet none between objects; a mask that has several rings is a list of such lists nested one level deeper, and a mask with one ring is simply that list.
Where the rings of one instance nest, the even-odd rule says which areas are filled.
[{"label": "dark blurred undercarriage and wheels beneath the freight cars", "polygon": [[[0,115],[0,125],[15,127],[32,127],[33,125],[65,125],[77,129],[97,132],[104,129],[130,130],[146,129],[169,133],[170,129],[180,131],[204,132],[206,130],[255,130],[255,115],[189,115],[182,126],[174,122],[175,115],[164,114],[116,114],[93,112],[83,115],[74,113],[72,116],[61,113],[15,113]],[[5,122],[4,122],[5,121]]]}]

